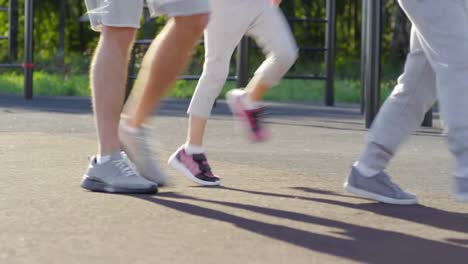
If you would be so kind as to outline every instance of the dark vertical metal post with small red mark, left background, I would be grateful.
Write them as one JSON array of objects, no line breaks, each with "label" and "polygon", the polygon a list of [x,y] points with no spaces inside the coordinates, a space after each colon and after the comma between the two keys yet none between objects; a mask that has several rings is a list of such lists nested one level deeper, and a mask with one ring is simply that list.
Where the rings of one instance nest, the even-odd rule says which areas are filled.
[{"label": "dark vertical metal post with small red mark, left background", "polygon": [[34,9],[33,0],[25,0],[24,7],[24,97],[32,99],[33,97],[33,32],[34,32]]}]

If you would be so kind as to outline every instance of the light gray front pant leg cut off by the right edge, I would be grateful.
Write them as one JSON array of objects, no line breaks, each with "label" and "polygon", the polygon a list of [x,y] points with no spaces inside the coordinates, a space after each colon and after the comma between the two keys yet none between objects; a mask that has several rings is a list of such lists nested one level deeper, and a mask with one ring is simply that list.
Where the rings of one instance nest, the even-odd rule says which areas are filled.
[{"label": "light gray front pant leg cut off by the right edge", "polygon": [[440,113],[455,156],[455,176],[468,177],[468,15],[463,0],[399,0],[434,69]]}]

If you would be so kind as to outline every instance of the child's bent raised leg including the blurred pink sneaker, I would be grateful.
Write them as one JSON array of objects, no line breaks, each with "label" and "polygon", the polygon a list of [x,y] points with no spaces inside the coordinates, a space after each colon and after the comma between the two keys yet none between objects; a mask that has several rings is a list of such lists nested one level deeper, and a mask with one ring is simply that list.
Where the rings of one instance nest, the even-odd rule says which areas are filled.
[{"label": "child's bent raised leg including the blurred pink sneaker", "polygon": [[232,90],[227,95],[231,110],[241,121],[247,138],[253,142],[265,141],[270,136],[262,122],[263,109],[257,101],[281,80],[297,57],[296,42],[283,13],[267,1],[262,3],[262,13],[253,21],[247,34],[255,38],[267,59],[245,91]]}]

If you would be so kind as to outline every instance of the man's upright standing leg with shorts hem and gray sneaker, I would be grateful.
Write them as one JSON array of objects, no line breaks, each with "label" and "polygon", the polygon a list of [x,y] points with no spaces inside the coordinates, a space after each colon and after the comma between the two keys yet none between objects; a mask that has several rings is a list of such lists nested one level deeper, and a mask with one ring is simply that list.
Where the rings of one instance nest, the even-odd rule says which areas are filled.
[{"label": "man's upright standing leg with shorts hem and gray sneaker", "polygon": [[91,65],[99,155],[91,159],[81,186],[92,191],[154,193],[157,186],[134,170],[118,139],[128,59],[142,2],[88,0],[86,4],[93,29],[102,31]]}]

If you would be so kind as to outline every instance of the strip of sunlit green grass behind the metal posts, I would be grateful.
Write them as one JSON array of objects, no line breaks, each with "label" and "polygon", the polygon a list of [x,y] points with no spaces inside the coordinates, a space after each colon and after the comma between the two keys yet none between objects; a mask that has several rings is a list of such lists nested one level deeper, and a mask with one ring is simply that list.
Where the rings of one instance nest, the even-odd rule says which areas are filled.
[{"label": "strip of sunlit green grass behind the metal posts", "polygon": [[[190,98],[195,90],[196,81],[178,81],[169,97]],[[393,89],[394,82],[387,81],[381,85],[382,98],[386,98]],[[283,80],[266,95],[267,101],[323,102],[324,81],[317,80]],[[235,82],[227,82],[221,98],[235,88]],[[18,73],[0,73],[0,93],[22,94],[23,76]],[[34,73],[34,94],[49,96],[88,96],[89,79],[87,75],[63,76],[45,72]],[[335,101],[339,103],[358,103],[360,82],[357,80],[336,80]]]}]

